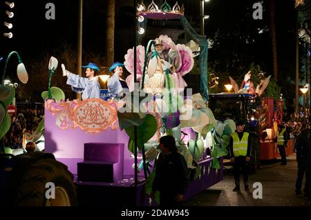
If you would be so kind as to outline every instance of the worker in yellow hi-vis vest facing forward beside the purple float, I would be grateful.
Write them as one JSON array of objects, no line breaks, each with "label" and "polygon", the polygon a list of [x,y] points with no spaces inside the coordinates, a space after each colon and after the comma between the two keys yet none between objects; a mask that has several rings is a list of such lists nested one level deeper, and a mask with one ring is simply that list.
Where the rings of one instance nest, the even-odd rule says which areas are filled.
[{"label": "worker in yellow hi-vis vest facing forward beside the purple float", "polygon": [[229,142],[230,157],[233,163],[234,181],[236,187],[234,192],[240,191],[240,170],[242,169],[244,188],[249,193],[248,186],[248,162],[250,161],[251,146],[249,133],[243,132],[244,124],[242,121],[236,122],[236,132],[232,134]]}]

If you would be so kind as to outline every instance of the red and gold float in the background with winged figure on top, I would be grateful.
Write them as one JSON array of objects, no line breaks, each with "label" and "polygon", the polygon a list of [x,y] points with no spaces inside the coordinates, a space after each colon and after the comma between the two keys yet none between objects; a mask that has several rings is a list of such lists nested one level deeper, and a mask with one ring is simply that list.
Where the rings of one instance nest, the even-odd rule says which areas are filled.
[{"label": "red and gold float in the background with winged figure on top", "polygon": [[[255,70],[256,72],[256,70]],[[254,85],[253,77],[258,79]],[[209,108],[213,110],[216,119],[223,121],[226,117],[241,120],[245,129],[252,137],[251,168],[260,167],[261,160],[270,160],[280,157],[274,139],[277,126],[283,123],[283,99],[265,97],[264,92],[270,83],[270,77],[265,72],[247,72],[238,86],[236,81],[229,77],[230,84],[225,85],[228,91],[220,94],[209,94]],[[226,115],[227,114],[227,115]],[[294,140],[288,140],[286,154],[294,154]]]}]

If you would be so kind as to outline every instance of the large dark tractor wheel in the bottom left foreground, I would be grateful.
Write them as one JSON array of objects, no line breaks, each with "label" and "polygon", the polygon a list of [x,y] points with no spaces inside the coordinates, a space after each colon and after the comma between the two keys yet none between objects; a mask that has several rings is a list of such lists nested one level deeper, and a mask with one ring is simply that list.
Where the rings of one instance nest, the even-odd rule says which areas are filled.
[{"label": "large dark tractor wheel in the bottom left foreground", "polygon": [[16,201],[17,206],[77,206],[73,174],[59,161],[39,159],[26,171]]}]

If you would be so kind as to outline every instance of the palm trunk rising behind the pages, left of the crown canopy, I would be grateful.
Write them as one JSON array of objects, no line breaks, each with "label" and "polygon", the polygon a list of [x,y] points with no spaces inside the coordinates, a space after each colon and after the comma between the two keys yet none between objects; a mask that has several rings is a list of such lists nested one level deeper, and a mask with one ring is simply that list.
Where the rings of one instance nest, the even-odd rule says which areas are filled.
[{"label": "palm trunk rising behind the pages, left of the crown canopy", "polygon": [[108,0],[107,3],[105,66],[111,66],[114,60],[115,44],[115,0]]}]

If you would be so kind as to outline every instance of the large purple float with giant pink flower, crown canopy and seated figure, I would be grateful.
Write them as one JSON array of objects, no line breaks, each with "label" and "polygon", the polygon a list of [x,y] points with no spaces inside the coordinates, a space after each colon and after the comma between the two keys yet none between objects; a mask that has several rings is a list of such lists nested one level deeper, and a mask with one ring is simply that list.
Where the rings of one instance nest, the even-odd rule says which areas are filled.
[{"label": "large purple float with giant pink flower, crown canopy and seated figure", "polygon": [[[191,183],[185,201],[223,179],[222,157],[228,153],[234,128],[216,121],[207,108],[208,42],[183,14],[178,2],[172,8],[167,2],[156,6],[153,1],[148,7],[139,3],[137,8],[138,18],[180,19],[185,32],[198,43],[200,93],[186,92],[187,83],[182,78],[194,66],[191,49],[160,35],[146,47],[134,46],[125,54],[129,90],[111,94],[111,86],[109,92],[101,89],[110,99],[105,95],[102,99],[69,101],[54,88],[60,99],[46,99],[45,152],[53,153],[75,174],[82,206],[117,206],[120,201],[138,206],[156,204],[149,194],[158,140],[167,134],[175,137],[189,168]],[[159,45],[162,51],[156,50]],[[167,54],[162,54],[164,51]],[[51,91],[50,85],[47,94],[53,98]]]}]

